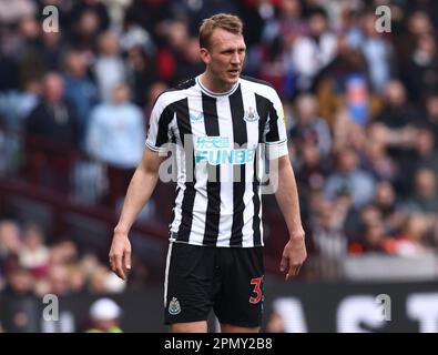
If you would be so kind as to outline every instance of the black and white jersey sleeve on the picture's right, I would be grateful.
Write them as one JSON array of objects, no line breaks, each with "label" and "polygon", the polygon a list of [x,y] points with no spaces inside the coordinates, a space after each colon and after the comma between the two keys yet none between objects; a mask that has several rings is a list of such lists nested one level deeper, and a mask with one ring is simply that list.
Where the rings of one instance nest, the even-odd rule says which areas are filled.
[{"label": "black and white jersey sleeve on the picture's right", "polygon": [[265,126],[266,158],[277,159],[288,154],[284,110],[278,94],[273,90],[272,104]]}]

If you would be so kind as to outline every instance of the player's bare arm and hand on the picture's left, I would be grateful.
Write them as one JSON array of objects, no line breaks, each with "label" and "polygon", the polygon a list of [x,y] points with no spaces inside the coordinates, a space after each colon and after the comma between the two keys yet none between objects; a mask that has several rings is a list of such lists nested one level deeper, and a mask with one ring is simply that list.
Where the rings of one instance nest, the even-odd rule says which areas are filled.
[{"label": "player's bare arm and hand on the picture's left", "polygon": [[110,250],[111,270],[123,280],[126,278],[126,272],[131,268],[131,243],[128,234],[155,189],[160,164],[164,159],[165,156],[146,148],[128,187]]}]

